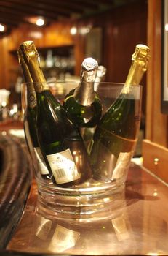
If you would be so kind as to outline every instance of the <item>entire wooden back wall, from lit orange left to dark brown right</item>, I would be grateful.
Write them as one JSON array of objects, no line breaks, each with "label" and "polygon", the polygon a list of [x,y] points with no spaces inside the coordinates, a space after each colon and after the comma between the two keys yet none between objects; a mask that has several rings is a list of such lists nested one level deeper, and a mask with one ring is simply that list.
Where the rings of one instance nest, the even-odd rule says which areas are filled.
[{"label": "entire wooden back wall, from lit orange left to dark brown right", "polygon": [[[146,21],[147,3],[145,0],[141,0],[132,5],[118,7],[109,12],[81,20],[60,20],[47,26],[47,28],[22,25],[14,29],[9,37],[0,39],[0,56],[2,56],[0,60],[0,88],[9,88],[9,83],[12,80],[11,69],[17,67],[18,64],[17,59],[9,54],[9,50],[17,50],[20,43],[27,39],[32,39],[37,48],[73,44],[76,59],[75,73],[79,75],[81,62],[86,56],[85,46],[87,42],[87,34],[81,34],[81,29],[87,28],[87,26],[91,29],[99,27],[103,31],[101,64],[104,64],[108,69],[106,80],[124,82],[135,45],[146,43]],[[78,29],[75,36],[70,34],[71,26],[76,26]]]}]

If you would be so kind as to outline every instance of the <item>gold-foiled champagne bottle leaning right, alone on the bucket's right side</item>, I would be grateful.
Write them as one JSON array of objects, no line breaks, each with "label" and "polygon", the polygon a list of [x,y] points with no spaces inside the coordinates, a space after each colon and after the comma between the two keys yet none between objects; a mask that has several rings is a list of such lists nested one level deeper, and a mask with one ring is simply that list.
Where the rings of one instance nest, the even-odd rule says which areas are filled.
[{"label": "gold-foiled champagne bottle leaning right, alone on the bucket's right side", "polygon": [[140,86],[137,85],[147,69],[148,59],[148,46],[137,45],[124,87],[97,125],[90,153],[92,170],[97,179],[113,181],[127,176],[140,126],[137,111]]}]

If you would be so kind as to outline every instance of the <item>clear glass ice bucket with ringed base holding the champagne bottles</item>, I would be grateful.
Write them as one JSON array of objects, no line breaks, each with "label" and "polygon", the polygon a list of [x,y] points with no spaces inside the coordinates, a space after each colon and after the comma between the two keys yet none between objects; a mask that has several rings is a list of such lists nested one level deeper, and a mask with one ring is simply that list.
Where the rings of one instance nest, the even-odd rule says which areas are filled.
[{"label": "clear glass ice bucket with ringed base holding the champagne bottles", "polygon": [[[66,94],[68,94],[71,89],[75,89],[79,85],[78,82],[51,82],[49,83],[49,88],[55,98],[63,104],[63,99]],[[102,105],[103,114],[115,106],[115,102],[123,91],[123,83],[97,83],[95,89],[99,95]],[[97,219],[106,217],[111,214],[115,208],[119,207],[124,200],[124,187],[127,180],[127,173],[129,170],[129,164],[134,155],[135,146],[138,138],[138,132],[140,129],[140,113],[141,113],[141,97],[142,97],[142,86],[129,86],[124,99],[120,100],[115,108],[119,113],[119,108],[123,104],[123,100],[127,99],[132,104],[124,105],[124,109],[119,115],[123,118],[127,118],[127,129],[128,127],[134,126],[134,139],[127,138],[127,132],[124,138],[116,135],[119,139],[119,143],[116,140],[116,150],[117,155],[108,148],[108,141],[106,138],[106,143],[99,145],[98,148],[95,147],[94,156],[96,155],[96,165],[101,166],[101,171],[98,172],[94,170],[95,163],[93,167],[93,176],[89,180],[85,181],[83,184],[72,186],[72,187],[58,187],[53,184],[51,179],[44,179],[38,168],[38,160],[33,151],[33,145],[31,138],[27,138],[27,144],[29,152],[31,154],[31,159],[33,161],[36,184],[38,188],[38,200],[41,207],[41,211],[44,214],[50,214],[60,219],[70,218],[70,219]],[[26,122],[27,113],[27,87],[25,84],[22,86],[22,109],[23,109],[23,121]],[[134,122],[136,124],[129,123],[131,115],[134,115]],[[118,116],[119,118],[119,116]],[[113,118],[111,118],[111,122]],[[84,138],[84,144],[87,148],[87,152],[90,157],[90,162],[94,162],[92,159],[92,147],[96,138],[94,138],[96,127],[92,128],[82,128],[81,135]],[[123,129],[124,130],[124,129]],[[111,134],[111,135],[110,135]],[[108,132],[109,138],[113,137],[113,131]],[[94,138],[94,140],[93,140]],[[127,147],[129,143],[129,147]],[[90,153],[91,152],[91,153]],[[105,163],[105,165],[103,165]],[[103,170],[103,166],[104,169]],[[85,169],[84,169],[85,170]],[[87,170],[85,170],[87,171]]]}]

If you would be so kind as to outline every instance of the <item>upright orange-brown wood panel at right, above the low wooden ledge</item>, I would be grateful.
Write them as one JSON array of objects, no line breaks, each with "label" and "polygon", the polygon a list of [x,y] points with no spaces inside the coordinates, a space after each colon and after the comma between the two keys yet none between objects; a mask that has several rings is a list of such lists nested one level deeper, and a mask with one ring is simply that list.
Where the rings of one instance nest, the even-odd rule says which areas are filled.
[{"label": "upright orange-brown wood panel at right, above the low wooden ledge", "polygon": [[161,114],[161,0],[148,1],[148,67],[146,138],[167,146],[167,116]]}]

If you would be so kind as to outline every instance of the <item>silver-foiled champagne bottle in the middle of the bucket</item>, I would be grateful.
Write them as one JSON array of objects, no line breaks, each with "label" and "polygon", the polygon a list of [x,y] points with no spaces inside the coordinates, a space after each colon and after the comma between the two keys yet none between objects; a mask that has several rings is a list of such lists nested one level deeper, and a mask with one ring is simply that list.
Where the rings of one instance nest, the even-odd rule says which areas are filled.
[{"label": "silver-foiled champagne bottle in the middle of the bucket", "polygon": [[84,59],[81,64],[80,83],[63,101],[63,108],[77,127],[95,127],[102,114],[102,104],[94,91],[97,61]]}]

